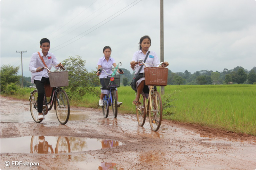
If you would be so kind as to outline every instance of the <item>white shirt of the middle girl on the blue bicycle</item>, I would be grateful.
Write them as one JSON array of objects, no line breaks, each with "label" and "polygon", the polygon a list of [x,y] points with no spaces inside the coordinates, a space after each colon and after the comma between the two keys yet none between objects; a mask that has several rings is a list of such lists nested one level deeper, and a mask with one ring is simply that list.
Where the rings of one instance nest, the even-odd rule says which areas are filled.
[{"label": "white shirt of the middle girl on the blue bicycle", "polygon": [[[112,74],[112,65],[116,63],[115,59],[113,59],[111,56],[110,56],[110,59],[109,61],[107,61],[107,59],[105,59],[105,56],[101,57],[97,63],[97,65],[100,65],[101,68],[104,68],[104,70],[108,73],[108,74]],[[103,70],[101,71],[101,75],[100,75],[100,78],[104,78],[108,76]]]}]

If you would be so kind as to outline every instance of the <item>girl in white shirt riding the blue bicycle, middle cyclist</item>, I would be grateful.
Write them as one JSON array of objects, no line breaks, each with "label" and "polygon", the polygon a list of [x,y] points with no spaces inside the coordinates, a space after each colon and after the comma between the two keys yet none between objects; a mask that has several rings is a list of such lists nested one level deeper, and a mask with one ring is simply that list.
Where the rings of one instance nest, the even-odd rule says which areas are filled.
[{"label": "girl in white shirt riding the blue bicycle, middle cyclist", "polygon": [[[109,46],[105,46],[103,48],[103,54],[104,56],[101,57],[97,63],[98,65],[98,70],[100,68],[104,68],[104,70],[108,73],[108,74],[112,74],[112,65],[114,67],[117,66],[116,64],[116,61],[115,59],[113,59],[110,55],[111,55],[111,48]],[[123,72],[120,72],[119,69],[118,69],[118,72],[119,74],[123,74]],[[104,71],[98,71],[97,72],[97,76],[100,77],[100,81],[101,81],[101,85],[102,85],[102,88],[101,88],[101,98],[100,98],[100,101],[99,101],[99,105],[100,106],[103,106],[103,97],[106,95],[106,94],[109,94],[109,90],[108,88],[106,87],[105,85],[105,82],[104,82],[104,77],[108,76]],[[117,92],[117,101],[118,101],[118,92]],[[117,102],[118,106],[120,106],[122,104],[122,102]]]}]

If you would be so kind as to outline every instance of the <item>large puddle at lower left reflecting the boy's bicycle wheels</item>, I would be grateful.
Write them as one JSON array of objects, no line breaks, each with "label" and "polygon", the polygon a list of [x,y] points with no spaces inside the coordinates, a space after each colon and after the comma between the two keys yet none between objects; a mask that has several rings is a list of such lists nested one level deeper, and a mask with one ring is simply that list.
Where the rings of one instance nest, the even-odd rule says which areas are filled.
[{"label": "large puddle at lower left reflecting the boy's bicycle wheels", "polygon": [[84,137],[24,136],[1,138],[1,153],[75,153],[120,145],[115,140]]}]

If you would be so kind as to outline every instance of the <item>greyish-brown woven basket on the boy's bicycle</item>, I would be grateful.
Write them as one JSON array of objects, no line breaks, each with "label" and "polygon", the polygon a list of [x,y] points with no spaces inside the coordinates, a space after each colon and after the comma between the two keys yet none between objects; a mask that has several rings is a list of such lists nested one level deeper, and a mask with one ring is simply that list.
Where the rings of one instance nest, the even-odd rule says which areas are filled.
[{"label": "greyish-brown woven basket on the boy's bicycle", "polygon": [[68,71],[54,71],[48,75],[51,87],[68,86]]}]

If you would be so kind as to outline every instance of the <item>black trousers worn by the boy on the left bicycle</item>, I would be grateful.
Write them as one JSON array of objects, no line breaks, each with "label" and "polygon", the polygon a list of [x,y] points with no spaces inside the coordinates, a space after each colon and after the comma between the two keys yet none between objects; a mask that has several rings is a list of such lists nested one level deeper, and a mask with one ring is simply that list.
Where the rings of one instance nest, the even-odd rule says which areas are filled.
[{"label": "black trousers worn by the boy on the left bicycle", "polygon": [[34,83],[37,86],[37,111],[38,113],[43,112],[43,101],[44,101],[44,96],[45,96],[45,87],[44,85],[46,83],[50,83],[49,78],[42,77],[41,80],[34,80]]}]

